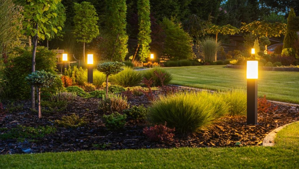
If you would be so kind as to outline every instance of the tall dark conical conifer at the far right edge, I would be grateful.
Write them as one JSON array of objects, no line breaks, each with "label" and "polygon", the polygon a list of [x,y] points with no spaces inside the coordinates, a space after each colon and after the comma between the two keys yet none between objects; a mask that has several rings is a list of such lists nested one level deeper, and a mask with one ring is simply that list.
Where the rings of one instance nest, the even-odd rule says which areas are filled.
[{"label": "tall dark conical conifer at the far right edge", "polygon": [[296,14],[294,12],[294,9],[292,8],[291,11],[289,12],[286,36],[283,39],[283,49],[293,47],[295,42],[298,40],[298,35],[294,30],[291,29],[291,27],[290,27],[291,23],[289,22],[289,21],[293,20],[294,18],[296,18]]}]

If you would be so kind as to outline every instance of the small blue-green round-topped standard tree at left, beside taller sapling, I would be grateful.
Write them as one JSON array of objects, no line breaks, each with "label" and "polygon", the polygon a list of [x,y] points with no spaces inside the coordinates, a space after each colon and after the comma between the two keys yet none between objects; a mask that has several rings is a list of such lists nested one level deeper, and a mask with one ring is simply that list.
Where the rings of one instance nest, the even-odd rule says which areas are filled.
[{"label": "small blue-green round-topped standard tree at left, beside taller sapling", "polygon": [[25,77],[28,84],[36,87],[37,92],[37,99],[38,99],[38,118],[42,118],[42,111],[40,107],[40,89],[42,87],[49,87],[55,81],[56,75],[52,74],[51,72],[42,71],[35,71],[32,72],[30,75]]}]

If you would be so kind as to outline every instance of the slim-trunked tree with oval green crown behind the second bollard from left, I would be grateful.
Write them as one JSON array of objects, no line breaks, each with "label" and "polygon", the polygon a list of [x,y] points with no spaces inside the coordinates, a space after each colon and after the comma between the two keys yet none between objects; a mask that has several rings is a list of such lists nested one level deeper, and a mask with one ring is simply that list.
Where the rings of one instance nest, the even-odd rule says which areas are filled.
[{"label": "slim-trunked tree with oval green crown behind the second bollard from left", "polygon": [[80,4],[74,3],[74,37],[77,42],[83,42],[83,62],[85,62],[85,43],[90,43],[92,39],[99,35],[97,26],[97,12],[90,2],[83,1]]}]

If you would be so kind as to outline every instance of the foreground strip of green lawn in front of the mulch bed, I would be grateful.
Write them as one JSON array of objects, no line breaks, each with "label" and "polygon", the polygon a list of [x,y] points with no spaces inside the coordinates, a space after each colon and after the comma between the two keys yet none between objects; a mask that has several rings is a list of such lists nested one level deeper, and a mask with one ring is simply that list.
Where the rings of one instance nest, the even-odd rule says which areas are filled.
[{"label": "foreground strip of green lawn in front of the mulch bed", "polygon": [[0,168],[299,168],[299,123],[274,147],[77,151],[0,156]]}]

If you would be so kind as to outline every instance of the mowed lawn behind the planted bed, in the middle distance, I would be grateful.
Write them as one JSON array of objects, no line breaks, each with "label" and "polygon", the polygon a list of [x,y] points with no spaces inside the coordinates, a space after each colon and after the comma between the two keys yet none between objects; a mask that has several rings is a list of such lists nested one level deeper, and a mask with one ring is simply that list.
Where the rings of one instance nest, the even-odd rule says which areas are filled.
[{"label": "mowed lawn behind the planted bed, in the middle distance", "polygon": [[[246,70],[223,65],[163,68],[173,74],[172,84],[210,90],[246,89]],[[258,95],[268,100],[299,103],[299,72],[259,71]]]}]

